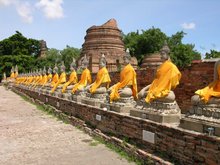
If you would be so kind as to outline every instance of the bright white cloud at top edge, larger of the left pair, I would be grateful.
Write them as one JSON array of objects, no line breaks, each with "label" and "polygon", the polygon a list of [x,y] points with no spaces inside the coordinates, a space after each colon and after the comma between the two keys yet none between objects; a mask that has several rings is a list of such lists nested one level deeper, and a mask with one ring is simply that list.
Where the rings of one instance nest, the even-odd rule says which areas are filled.
[{"label": "bright white cloud at top edge, larger of the left pair", "polygon": [[46,18],[59,19],[64,17],[62,3],[63,0],[39,0],[36,6],[44,12]]}]

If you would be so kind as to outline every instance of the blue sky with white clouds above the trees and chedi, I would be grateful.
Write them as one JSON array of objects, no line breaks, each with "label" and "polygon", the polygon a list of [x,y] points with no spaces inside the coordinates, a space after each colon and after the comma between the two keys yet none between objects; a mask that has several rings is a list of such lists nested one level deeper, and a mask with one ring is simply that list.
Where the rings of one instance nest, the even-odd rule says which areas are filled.
[{"label": "blue sky with white clouds above the trees and chedi", "polygon": [[115,18],[125,34],[152,26],[168,36],[183,30],[183,42],[204,54],[220,51],[219,7],[219,0],[0,0],[0,40],[18,30],[49,48],[81,48],[89,27]]}]

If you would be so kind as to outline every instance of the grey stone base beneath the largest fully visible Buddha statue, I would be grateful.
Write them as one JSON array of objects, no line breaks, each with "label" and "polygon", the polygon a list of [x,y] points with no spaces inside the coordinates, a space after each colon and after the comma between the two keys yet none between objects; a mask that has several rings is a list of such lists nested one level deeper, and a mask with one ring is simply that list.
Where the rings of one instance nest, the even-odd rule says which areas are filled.
[{"label": "grey stone base beneath the largest fully visible Buddha statue", "polygon": [[130,111],[130,115],[162,124],[179,124],[181,111],[176,101],[171,103],[153,101],[151,104],[141,101]]}]

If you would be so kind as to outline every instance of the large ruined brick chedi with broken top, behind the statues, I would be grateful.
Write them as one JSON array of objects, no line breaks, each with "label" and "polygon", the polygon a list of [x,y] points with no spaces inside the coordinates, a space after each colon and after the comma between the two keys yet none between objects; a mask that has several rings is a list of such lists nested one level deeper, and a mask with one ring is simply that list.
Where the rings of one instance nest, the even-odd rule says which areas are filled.
[{"label": "large ruined brick chedi with broken top, behind the statues", "polygon": [[[105,54],[109,72],[118,71],[123,67],[125,46],[115,19],[110,19],[101,26],[90,27],[84,39],[78,66],[81,66],[81,58],[86,54],[89,57],[89,69],[96,73],[99,70],[99,58]],[[131,63],[137,67],[136,58],[132,58]]]}]

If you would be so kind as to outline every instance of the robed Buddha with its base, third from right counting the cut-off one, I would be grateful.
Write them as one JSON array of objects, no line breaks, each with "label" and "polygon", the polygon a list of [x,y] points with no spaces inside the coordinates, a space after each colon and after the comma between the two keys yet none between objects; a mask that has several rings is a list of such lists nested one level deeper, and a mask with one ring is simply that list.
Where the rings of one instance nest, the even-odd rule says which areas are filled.
[{"label": "robed Buddha with its base, third from right counting the cut-off one", "polygon": [[[123,56],[124,68],[120,72],[120,81],[108,89],[110,93],[106,107],[110,110],[128,113],[135,105],[134,99],[137,99],[137,80],[136,72],[130,64],[131,56],[129,50],[126,50]],[[110,104],[108,103],[110,102]]]}]

